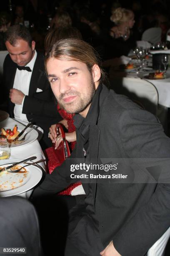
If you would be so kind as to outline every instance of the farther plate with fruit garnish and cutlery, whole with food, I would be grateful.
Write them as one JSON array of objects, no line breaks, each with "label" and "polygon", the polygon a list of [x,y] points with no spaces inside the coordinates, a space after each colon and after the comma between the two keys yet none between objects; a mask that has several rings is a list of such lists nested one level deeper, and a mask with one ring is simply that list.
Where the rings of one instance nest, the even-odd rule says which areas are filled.
[{"label": "farther plate with fruit garnish and cutlery, whole with food", "polygon": [[14,127],[2,127],[0,129],[0,135],[4,135],[7,138],[10,148],[24,146],[25,144],[30,144],[35,141],[38,137],[38,132],[33,128],[27,128],[23,135],[16,139],[25,126],[15,125]]}]

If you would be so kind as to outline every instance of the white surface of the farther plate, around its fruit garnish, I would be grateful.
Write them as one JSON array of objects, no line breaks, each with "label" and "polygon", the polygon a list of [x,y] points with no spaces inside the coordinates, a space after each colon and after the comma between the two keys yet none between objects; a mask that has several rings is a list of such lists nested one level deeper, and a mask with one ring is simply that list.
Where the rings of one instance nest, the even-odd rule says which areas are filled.
[{"label": "white surface of the farther plate, around its fruit garnish", "polygon": [[[13,129],[13,127],[3,127],[5,130],[7,129]],[[25,126],[18,126],[18,131],[21,132],[23,129],[25,128]],[[32,131],[31,131],[32,130]],[[30,132],[29,132],[30,131]],[[25,136],[25,141],[23,141],[22,143],[20,144],[16,144],[16,145],[10,145],[9,144],[9,147],[10,148],[17,148],[17,147],[22,147],[26,144],[30,144],[32,143],[33,141],[35,141],[37,138],[38,138],[38,132],[35,130],[35,129],[32,129],[32,128],[27,128],[26,131],[23,133],[22,137],[28,133],[26,136]],[[21,137],[21,138],[22,138]]]}]

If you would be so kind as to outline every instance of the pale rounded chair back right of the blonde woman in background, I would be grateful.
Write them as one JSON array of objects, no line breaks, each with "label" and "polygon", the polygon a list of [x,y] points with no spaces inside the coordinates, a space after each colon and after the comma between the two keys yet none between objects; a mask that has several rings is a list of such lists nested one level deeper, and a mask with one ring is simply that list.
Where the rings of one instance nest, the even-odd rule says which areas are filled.
[{"label": "pale rounded chair back right of the blonde woman in background", "polygon": [[148,28],[143,32],[142,40],[157,44],[161,41],[161,33],[161,28]]}]

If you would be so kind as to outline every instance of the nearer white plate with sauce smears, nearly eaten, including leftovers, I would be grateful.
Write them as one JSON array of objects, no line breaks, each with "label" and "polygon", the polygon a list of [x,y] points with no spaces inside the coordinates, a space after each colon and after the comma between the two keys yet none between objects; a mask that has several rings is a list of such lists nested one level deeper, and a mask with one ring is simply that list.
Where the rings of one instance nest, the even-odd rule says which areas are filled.
[{"label": "nearer white plate with sauce smears, nearly eaten, including leftovers", "polygon": [[[13,159],[13,162],[8,159],[5,164],[0,165],[0,169],[19,161],[21,161],[21,159]],[[14,166],[12,169],[18,169],[24,165],[25,164],[20,164]],[[21,169],[20,172],[16,173],[2,172],[2,174],[0,173],[0,197],[24,193],[35,187],[38,182],[40,182],[41,178],[42,170],[37,165],[26,166]]]}]

